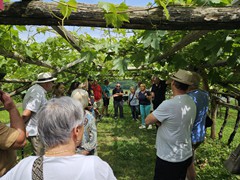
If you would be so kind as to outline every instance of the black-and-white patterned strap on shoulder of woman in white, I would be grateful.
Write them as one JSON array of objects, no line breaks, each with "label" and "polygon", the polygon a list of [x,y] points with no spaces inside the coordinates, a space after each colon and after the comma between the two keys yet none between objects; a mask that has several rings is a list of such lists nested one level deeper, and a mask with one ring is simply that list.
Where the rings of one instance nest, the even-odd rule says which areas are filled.
[{"label": "black-and-white patterned strap on shoulder of woman in white", "polygon": [[39,156],[33,163],[32,179],[43,180],[43,156]]}]

